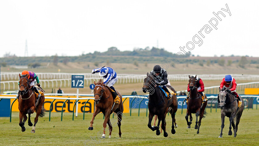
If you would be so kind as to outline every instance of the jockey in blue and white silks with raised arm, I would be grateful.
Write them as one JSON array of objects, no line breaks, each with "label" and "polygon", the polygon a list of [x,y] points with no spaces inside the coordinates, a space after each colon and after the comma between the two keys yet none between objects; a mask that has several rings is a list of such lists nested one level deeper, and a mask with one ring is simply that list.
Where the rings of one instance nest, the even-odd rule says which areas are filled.
[{"label": "jockey in blue and white silks with raised arm", "polygon": [[[103,67],[102,69],[97,68],[92,70],[92,74],[99,72],[99,75],[104,78],[103,84],[113,89],[116,92],[113,85],[118,81],[116,72],[110,67]],[[116,92],[117,93],[117,92]]]}]

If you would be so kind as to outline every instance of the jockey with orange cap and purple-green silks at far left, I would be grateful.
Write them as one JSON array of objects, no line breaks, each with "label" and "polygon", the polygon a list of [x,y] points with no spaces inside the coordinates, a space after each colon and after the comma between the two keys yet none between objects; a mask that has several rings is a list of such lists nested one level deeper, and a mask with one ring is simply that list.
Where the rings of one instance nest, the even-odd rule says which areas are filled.
[{"label": "jockey with orange cap and purple-green silks at far left", "polygon": [[[29,75],[29,77],[28,77],[28,79],[30,80],[30,86],[32,86],[31,87],[31,89],[33,90],[33,91],[35,91],[36,93],[38,93],[39,94],[39,91],[37,90],[37,88],[36,87],[34,87],[34,85],[37,83],[37,86],[39,87],[40,86],[40,84],[39,84],[39,78],[38,78],[38,76],[34,73],[34,72],[32,72],[32,71],[23,71],[22,72],[22,77],[26,77],[27,75]],[[18,85],[19,85],[19,82],[18,82]],[[20,96],[20,90],[18,91],[18,93],[17,93],[17,99],[19,99],[19,96]],[[37,97],[37,99],[39,99],[39,97],[40,97],[41,95],[39,94],[38,95],[38,97]]]}]

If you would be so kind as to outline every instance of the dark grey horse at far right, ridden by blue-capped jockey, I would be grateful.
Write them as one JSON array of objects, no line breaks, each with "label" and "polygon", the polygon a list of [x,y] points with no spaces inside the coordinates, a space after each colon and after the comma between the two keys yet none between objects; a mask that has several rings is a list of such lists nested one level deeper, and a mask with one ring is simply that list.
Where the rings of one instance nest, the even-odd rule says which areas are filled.
[{"label": "dark grey horse at far right, ridden by blue-capped jockey", "polygon": [[[221,111],[221,132],[219,138],[222,138],[222,131],[224,128],[225,116],[229,118],[229,131],[228,135],[232,135],[231,125],[234,129],[234,137],[236,137],[237,126],[239,124],[242,112],[244,110],[244,100],[241,96],[240,99],[242,100],[242,105],[238,108],[238,100],[236,97],[228,92],[228,88],[225,86],[220,90],[219,88],[219,95],[218,95],[218,103],[220,105]],[[236,125],[235,125],[235,118],[236,118]]]}]

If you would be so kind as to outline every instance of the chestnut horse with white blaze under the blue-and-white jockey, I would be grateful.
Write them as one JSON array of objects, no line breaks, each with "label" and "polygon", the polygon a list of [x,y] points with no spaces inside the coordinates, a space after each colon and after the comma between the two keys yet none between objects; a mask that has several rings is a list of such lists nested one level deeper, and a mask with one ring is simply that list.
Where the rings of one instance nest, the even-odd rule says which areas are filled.
[{"label": "chestnut horse with white blaze under the blue-and-white jockey", "polygon": [[[105,116],[104,122],[103,122],[103,135],[101,138],[105,138],[105,129],[106,125],[108,123],[109,126],[109,138],[111,138],[111,134],[113,131],[113,126],[119,127],[119,137],[121,137],[121,120],[122,120],[122,113],[123,113],[123,104],[122,104],[122,96],[121,94],[117,91],[118,95],[120,96],[121,102],[119,104],[115,104],[113,107],[114,103],[114,97],[111,94],[111,91],[109,90],[108,87],[103,85],[103,81],[100,79],[97,83],[94,81],[94,101],[95,101],[95,111],[92,114],[92,120],[90,122],[90,126],[88,127],[88,130],[93,130],[92,124],[94,117],[102,112]],[[118,122],[117,125],[114,125],[110,122],[110,114],[116,113]]]}]

